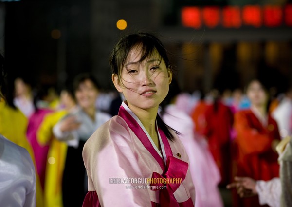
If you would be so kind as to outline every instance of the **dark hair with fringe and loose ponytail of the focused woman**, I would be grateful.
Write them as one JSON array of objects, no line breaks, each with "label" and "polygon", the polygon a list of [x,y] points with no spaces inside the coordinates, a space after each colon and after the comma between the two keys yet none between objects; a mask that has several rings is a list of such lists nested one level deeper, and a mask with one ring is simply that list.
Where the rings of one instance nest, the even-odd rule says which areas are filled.
[{"label": "dark hair with fringe and loose ponytail of the focused woman", "polygon": [[[141,58],[139,62],[142,62],[147,57],[153,55],[154,51],[157,51],[160,58],[164,60],[166,68],[172,70],[166,49],[162,42],[152,34],[139,32],[121,38],[115,45],[110,55],[110,67],[113,74],[121,78],[121,71],[126,64],[128,54],[137,46],[141,47]],[[173,129],[167,126],[159,115],[157,115],[156,121],[158,127],[164,132],[166,137],[170,140],[174,140],[174,136],[170,132]]]}]

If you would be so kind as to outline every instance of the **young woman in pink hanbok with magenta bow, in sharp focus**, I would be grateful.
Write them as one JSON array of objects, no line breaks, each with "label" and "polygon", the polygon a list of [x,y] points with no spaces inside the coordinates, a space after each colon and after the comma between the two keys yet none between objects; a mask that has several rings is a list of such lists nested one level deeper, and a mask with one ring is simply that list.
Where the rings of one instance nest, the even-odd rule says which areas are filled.
[{"label": "young woman in pink hanbok with magenta bow, in sharp focus", "polygon": [[157,115],[172,79],[163,44],[148,33],[128,35],[110,64],[126,101],[84,145],[89,192],[83,207],[194,207],[188,156]]}]

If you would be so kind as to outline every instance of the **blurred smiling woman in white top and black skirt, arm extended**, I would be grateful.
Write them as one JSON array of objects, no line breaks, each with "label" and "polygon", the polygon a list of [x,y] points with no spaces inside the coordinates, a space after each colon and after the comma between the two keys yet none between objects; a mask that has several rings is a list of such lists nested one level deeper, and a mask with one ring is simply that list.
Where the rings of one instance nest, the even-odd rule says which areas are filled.
[{"label": "blurred smiling woman in white top and black skirt, arm extended", "polygon": [[73,81],[77,109],[63,117],[53,128],[55,137],[68,144],[62,179],[64,207],[81,207],[87,193],[87,175],[82,150],[91,134],[111,116],[96,108],[100,86],[91,74],[79,74]]}]

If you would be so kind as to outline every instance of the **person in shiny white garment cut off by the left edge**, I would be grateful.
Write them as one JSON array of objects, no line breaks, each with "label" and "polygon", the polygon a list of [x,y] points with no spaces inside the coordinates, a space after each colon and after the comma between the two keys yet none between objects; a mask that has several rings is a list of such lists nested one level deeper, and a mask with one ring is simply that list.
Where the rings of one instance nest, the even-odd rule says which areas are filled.
[{"label": "person in shiny white garment cut off by the left edge", "polygon": [[[0,101],[5,98],[4,58],[0,54]],[[36,207],[36,174],[24,148],[0,134],[0,206]]]}]

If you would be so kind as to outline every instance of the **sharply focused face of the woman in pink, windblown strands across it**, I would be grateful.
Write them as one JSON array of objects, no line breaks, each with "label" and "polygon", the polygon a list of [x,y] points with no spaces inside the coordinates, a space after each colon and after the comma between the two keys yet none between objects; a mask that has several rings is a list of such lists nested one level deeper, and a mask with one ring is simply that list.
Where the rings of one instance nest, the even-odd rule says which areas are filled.
[{"label": "sharply focused face of the woman in pink, windblown strands across it", "polygon": [[136,46],[128,54],[121,77],[112,75],[112,80],[129,107],[158,109],[168,93],[172,72],[156,50],[142,62],[140,58],[141,46]]}]

